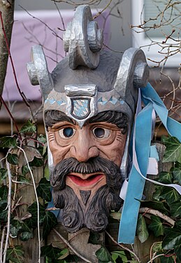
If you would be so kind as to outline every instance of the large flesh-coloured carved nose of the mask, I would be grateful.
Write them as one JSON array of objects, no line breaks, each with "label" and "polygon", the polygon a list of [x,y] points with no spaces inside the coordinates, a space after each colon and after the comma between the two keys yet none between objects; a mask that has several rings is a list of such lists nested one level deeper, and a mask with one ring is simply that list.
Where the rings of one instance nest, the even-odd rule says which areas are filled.
[{"label": "large flesh-coloured carved nose of the mask", "polygon": [[71,146],[70,152],[71,157],[74,157],[80,162],[86,162],[90,158],[99,155],[99,149],[96,146],[96,142],[92,139],[89,131],[84,128],[79,131],[78,137]]}]

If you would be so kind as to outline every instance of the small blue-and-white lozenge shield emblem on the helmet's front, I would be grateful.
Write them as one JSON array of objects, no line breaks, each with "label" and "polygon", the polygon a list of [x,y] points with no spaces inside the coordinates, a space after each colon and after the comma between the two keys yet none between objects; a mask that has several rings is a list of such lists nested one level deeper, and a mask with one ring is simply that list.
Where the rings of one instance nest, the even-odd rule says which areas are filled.
[{"label": "small blue-and-white lozenge shield emblem on the helmet's front", "polygon": [[90,99],[71,99],[71,114],[77,119],[85,119],[90,114]]}]

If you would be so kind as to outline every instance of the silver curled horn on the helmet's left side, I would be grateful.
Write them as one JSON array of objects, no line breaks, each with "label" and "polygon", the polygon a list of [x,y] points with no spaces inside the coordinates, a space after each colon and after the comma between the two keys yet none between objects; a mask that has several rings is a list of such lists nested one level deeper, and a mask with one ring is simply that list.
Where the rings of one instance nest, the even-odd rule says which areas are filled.
[{"label": "silver curled horn on the helmet's left side", "polygon": [[31,84],[36,86],[40,85],[43,99],[48,97],[48,94],[53,88],[53,80],[43,52],[43,48],[39,45],[32,46],[31,48],[31,62],[27,63],[27,72]]}]

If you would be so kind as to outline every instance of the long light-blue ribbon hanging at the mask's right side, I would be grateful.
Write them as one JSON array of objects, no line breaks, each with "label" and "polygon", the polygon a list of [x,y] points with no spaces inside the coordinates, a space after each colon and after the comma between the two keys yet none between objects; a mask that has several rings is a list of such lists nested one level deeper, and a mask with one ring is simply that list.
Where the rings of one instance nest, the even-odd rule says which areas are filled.
[{"label": "long light-blue ribbon hanging at the mask's right side", "polygon": [[[145,107],[138,113],[135,121],[135,150],[140,172],[144,177],[147,175],[147,166],[152,139],[152,111],[157,112],[162,123],[171,136],[175,136],[181,142],[181,124],[168,117],[168,109],[161,101],[159,95],[150,83],[140,89]],[[126,198],[122,209],[118,243],[133,244],[136,235],[136,225],[140,200],[143,196],[145,179],[140,176],[133,165],[129,175],[129,183],[126,191]]]}]

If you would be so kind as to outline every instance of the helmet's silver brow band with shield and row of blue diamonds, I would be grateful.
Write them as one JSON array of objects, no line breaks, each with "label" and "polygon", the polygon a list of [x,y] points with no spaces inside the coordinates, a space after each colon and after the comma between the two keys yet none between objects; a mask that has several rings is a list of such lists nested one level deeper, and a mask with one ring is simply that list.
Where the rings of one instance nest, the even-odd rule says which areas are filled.
[{"label": "helmet's silver brow band with shield and row of blue diamonds", "polygon": [[66,85],[64,93],[52,90],[45,100],[44,112],[58,110],[74,119],[82,128],[85,122],[100,112],[123,112],[132,116],[131,109],[115,90],[99,92],[93,84]]}]

